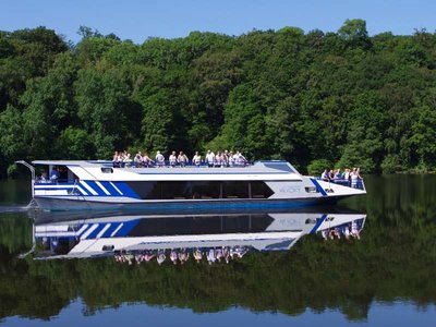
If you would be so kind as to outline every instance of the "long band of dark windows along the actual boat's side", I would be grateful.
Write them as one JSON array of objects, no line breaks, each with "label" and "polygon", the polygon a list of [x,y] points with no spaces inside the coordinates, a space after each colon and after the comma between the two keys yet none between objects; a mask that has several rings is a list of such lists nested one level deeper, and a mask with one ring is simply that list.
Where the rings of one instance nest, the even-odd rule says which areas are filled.
[{"label": "long band of dark windows along the actual boat's side", "polygon": [[274,194],[263,181],[128,182],[143,199],[267,198]]}]

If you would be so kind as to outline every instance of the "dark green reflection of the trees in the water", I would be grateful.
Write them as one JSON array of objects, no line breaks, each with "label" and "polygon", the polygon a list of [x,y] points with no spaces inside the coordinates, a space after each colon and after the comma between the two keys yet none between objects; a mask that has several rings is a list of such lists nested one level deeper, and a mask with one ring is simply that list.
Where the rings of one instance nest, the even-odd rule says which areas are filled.
[{"label": "dark green reflection of the trees in the water", "polygon": [[[208,265],[204,257],[199,264],[191,257],[183,266],[170,265],[168,258],[161,266],[156,258],[128,265],[113,256],[23,261],[16,254],[31,247],[32,223],[24,216],[2,217],[0,318],[50,318],[77,296],[90,314],[123,303],[194,312],[238,305],[290,315],[338,310],[351,320],[365,319],[375,301],[401,300],[425,310],[436,303],[436,225],[431,214],[436,204],[433,189],[424,187],[419,177],[405,180],[374,179],[367,183],[366,204],[350,202],[368,215],[360,241],[306,235],[291,251],[251,251],[228,265]],[[434,185],[431,178],[424,181]]]}]

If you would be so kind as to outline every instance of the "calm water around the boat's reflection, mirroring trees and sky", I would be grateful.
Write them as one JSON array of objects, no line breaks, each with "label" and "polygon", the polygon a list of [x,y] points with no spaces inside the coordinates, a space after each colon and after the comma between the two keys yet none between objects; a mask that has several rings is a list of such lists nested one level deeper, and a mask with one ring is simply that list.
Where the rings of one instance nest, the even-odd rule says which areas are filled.
[{"label": "calm water around the boat's reflection, mirroring trees and sky", "polygon": [[26,182],[0,181],[0,326],[435,326],[436,177],[365,179],[361,240],[229,265],[32,261]]}]

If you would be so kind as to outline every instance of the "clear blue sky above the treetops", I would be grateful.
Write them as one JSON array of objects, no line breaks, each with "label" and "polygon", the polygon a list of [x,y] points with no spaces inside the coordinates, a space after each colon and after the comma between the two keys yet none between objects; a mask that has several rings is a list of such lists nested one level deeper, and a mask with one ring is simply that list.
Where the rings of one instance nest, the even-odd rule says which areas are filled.
[{"label": "clear blue sky above the treetops", "polygon": [[337,32],[348,19],[370,35],[436,31],[436,0],[0,0],[0,31],[46,26],[77,43],[80,26],[142,44],[193,31],[241,35],[295,26]]}]

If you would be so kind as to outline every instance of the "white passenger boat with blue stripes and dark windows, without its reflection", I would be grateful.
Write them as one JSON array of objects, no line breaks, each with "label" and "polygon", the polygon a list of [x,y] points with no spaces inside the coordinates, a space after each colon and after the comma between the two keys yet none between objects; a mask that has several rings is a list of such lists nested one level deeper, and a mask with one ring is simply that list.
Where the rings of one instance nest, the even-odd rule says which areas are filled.
[{"label": "white passenger boat with blue stripes and dark windows, without its reflection", "polygon": [[[331,204],[365,194],[353,185],[300,174],[286,161],[241,167],[114,168],[111,161],[37,160],[29,165],[32,194],[47,210],[263,208]],[[35,168],[45,171],[38,179]]]}]

